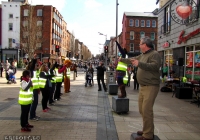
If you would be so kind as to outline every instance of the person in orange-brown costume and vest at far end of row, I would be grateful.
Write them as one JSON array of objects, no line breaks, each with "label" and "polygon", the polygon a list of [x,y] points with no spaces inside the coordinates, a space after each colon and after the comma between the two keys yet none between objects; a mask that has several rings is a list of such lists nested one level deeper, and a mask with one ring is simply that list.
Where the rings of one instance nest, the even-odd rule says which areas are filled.
[{"label": "person in orange-brown costume and vest at far end of row", "polygon": [[66,69],[64,71],[64,89],[65,93],[70,92],[70,67],[72,65],[72,62],[70,60],[65,60],[64,65],[66,66]]}]

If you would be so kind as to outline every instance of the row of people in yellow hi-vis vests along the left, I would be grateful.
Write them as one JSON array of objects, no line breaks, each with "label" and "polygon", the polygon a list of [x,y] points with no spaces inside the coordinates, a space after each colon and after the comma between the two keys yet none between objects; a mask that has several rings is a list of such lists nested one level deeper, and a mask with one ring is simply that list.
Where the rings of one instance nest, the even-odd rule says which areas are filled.
[{"label": "row of people in yellow hi-vis vests along the left", "polygon": [[[48,112],[49,105],[55,105],[54,102],[61,99],[61,85],[64,81],[65,92],[70,92],[70,67],[71,61],[65,60],[62,65],[56,61],[48,67],[49,63],[41,63],[36,58],[28,63],[26,70],[23,71],[21,77],[21,88],[19,92],[19,104],[21,105],[21,131],[31,131],[32,125],[28,123],[30,112],[30,120],[38,120],[40,117],[36,115],[38,105],[38,95],[42,93],[42,111]],[[33,98],[32,98],[33,97]]]}]

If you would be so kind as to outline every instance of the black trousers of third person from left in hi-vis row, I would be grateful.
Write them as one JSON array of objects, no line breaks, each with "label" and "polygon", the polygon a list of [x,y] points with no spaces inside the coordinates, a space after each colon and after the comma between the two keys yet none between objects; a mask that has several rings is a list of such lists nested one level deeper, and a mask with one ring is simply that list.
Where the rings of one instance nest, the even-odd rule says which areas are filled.
[{"label": "black trousers of third person from left in hi-vis row", "polygon": [[47,102],[49,100],[49,95],[50,95],[50,88],[41,88],[40,89],[42,92],[42,109],[47,109]]}]

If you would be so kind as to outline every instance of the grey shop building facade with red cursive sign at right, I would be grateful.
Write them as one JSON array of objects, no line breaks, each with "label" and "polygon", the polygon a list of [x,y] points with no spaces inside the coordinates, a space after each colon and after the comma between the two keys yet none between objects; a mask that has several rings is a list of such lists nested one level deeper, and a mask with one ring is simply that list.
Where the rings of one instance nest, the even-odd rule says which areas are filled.
[{"label": "grey shop building facade with red cursive sign at right", "polygon": [[158,12],[157,44],[162,62],[178,77],[200,80],[199,0],[163,3]]}]

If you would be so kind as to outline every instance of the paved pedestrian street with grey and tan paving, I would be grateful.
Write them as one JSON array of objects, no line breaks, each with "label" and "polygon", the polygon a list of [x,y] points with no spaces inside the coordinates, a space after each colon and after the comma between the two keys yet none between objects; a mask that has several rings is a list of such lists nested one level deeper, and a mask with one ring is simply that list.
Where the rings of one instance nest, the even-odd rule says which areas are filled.
[{"label": "paved pedestrian street with grey and tan paving", "polygon": [[[79,69],[76,80],[71,72],[71,92],[64,93],[60,101],[49,106],[50,111],[42,111],[39,95],[36,112],[41,118],[30,120],[34,128],[22,133],[18,104],[21,72],[17,72],[17,84],[7,84],[6,79],[0,77],[0,139],[34,135],[41,140],[130,140],[131,133],[142,130],[138,90],[133,90],[132,80],[131,86],[126,88],[129,112],[117,114],[112,110],[113,95],[98,92],[96,76],[94,86],[85,87],[85,73]],[[200,108],[190,101],[172,98],[172,92],[159,92],[154,105],[154,122],[155,135],[160,140],[200,140]]]}]

